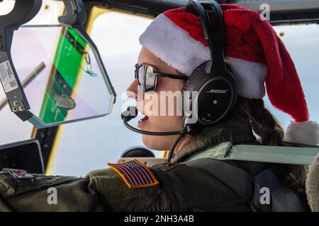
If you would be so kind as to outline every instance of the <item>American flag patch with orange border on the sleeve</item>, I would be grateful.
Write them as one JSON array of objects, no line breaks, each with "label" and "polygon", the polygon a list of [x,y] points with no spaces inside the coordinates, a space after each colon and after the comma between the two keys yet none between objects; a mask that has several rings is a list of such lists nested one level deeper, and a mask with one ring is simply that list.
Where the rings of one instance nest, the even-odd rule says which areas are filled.
[{"label": "American flag patch with orange border on the sleeve", "polygon": [[152,171],[138,160],[130,160],[117,164],[108,163],[123,178],[129,188],[142,188],[159,184]]}]

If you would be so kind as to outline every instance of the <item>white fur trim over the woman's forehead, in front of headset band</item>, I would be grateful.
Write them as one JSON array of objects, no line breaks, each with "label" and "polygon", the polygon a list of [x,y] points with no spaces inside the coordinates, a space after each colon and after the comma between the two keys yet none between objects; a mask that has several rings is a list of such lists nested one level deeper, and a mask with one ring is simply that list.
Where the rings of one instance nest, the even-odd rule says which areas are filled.
[{"label": "white fur trim over the woman's forehead, in front of headset band", "polygon": [[164,14],[157,16],[140,35],[140,44],[186,76],[210,59],[208,47],[191,38]]}]

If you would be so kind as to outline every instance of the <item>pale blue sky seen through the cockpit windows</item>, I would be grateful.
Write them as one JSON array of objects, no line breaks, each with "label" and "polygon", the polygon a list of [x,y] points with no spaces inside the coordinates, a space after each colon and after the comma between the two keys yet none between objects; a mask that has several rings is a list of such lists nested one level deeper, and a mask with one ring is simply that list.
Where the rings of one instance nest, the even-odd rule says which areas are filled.
[{"label": "pale blue sky seen through the cockpit windows", "polygon": [[[112,113],[106,117],[63,126],[52,174],[84,176],[93,169],[105,168],[107,162],[116,162],[126,149],[142,145],[140,134],[126,129],[120,116],[122,105],[127,101],[123,93],[133,81],[133,66],[141,48],[138,37],[150,22],[147,18],[120,13],[104,13],[94,21],[91,38],[99,48],[108,76],[116,89],[117,102]],[[282,40],[296,64],[310,118],[319,121],[319,25],[279,26],[274,29],[284,32]],[[3,96],[0,89],[0,99]],[[286,127],[291,120],[289,115],[274,109],[267,98],[265,100],[269,109]],[[21,122],[6,107],[0,112],[0,128],[0,144],[3,144],[29,138],[32,126],[28,122]],[[155,153],[158,157],[161,154]]]}]

